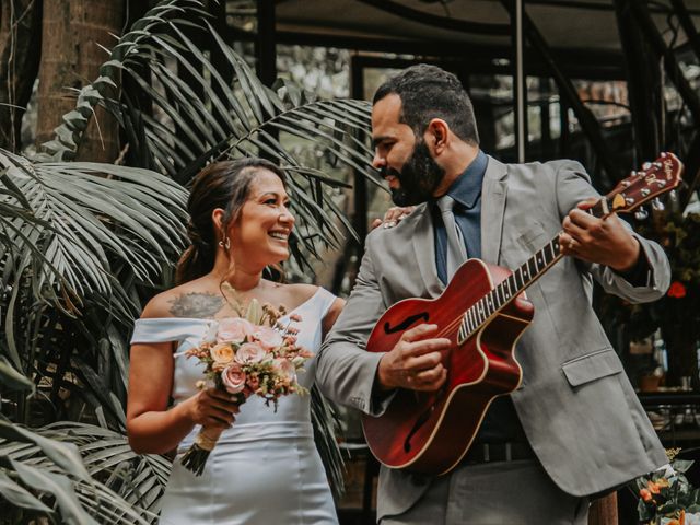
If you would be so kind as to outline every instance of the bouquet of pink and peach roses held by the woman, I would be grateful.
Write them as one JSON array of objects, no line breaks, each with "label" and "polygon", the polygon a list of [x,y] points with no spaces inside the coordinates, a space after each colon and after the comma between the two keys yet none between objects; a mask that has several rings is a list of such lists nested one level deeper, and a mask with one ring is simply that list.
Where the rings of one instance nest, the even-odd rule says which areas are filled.
[{"label": "bouquet of pink and peach roses held by the woman", "polygon": [[[243,308],[237,306],[236,313]],[[287,324],[280,323],[284,307],[273,308],[252,300],[245,315],[220,319],[213,330],[195,348],[183,352],[205,364],[207,380],[197,386],[217,388],[235,396],[241,405],[250,396],[262,397],[266,405],[277,410],[280,397],[289,394],[306,394],[296,382],[296,372],[313,353],[296,345],[292,322],[301,320],[291,315]],[[195,443],[182,458],[182,464],[200,476],[209,454],[223,432],[222,429],[202,427]]]}]

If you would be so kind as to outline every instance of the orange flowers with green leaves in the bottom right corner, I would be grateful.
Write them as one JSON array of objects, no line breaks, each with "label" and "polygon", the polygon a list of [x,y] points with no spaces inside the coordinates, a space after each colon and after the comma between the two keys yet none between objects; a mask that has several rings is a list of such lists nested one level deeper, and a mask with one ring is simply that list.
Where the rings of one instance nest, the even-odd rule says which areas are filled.
[{"label": "orange flowers with green leaves in the bottom right corner", "polygon": [[688,525],[690,515],[700,512],[700,489],[693,488],[685,472],[691,460],[677,459],[680,448],[666,451],[669,466],[640,476],[629,485],[639,498],[641,522],[653,525]]}]

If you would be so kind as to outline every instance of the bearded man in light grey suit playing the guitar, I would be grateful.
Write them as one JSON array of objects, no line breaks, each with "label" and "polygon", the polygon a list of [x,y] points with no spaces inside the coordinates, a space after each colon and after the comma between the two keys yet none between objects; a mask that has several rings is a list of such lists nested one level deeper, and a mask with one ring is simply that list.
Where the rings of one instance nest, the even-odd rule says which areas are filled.
[{"label": "bearded man in light grey suit playing the guitar", "polygon": [[448,475],[382,467],[377,520],[585,524],[591,497],[666,463],[591,307],[592,280],[627,301],[653,301],[668,288],[666,256],[615,214],[583,211],[597,192],[579,163],[506,165],[483,153],[467,93],[440,68],[408,68],[377,90],[372,137],[394,201],[418,206],[366,238],[355,288],[318,355],[330,398],[377,416],[396,388],[442,386],[448,341],[434,325],[408,330],[386,353],[364,346],[386,308],[438,296],[466,256],[515,268],[560,231],[570,256],[527,291],[535,317],[515,351],[522,385],[490,406]]}]

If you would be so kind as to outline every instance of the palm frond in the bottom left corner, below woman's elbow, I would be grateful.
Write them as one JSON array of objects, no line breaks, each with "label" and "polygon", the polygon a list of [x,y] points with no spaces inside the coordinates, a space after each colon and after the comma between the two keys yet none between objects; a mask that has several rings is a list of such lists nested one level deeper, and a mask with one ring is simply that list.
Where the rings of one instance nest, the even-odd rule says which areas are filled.
[{"label": "palm frond in the bottom left corner, below woman's elbow", "polygon": [[139,456],[124,435],[101,427],[61,422],[32,432],[3,424],[0,494],[14,506],[59,523],[156,522],[170,475],[164,457]]}]

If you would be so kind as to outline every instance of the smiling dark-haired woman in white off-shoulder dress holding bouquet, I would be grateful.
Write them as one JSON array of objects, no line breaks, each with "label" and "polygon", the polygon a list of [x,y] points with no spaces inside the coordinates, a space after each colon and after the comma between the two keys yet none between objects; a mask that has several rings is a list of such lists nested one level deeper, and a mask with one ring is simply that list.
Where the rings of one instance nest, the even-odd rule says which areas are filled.
[{"label": "smiling dark-haired woman in white off-shoulder dress holding bouquet", "polygon": [[[257,396],[237,407],[223,392],[198,390],[201,369],[180,354],[217,319],[235,316],[224,282],[243,302],[282,304],[299,315],[299,343],[314,352],[340,313],[342,300],[322,288],[262,278],[289,257],[294,218],[284,173],[260,159],[211,164],[194,182],[188,211],[191,246],[178,262],[180,284],[149,302],[131,339],[129,443],[138,453],[177,451],[160,523],[337,524],[310,396],[282,397],[277,412]],[[315,368],[308,360],[299,383],[311,388]],[[224,430],[197,477],[179,458],[201,425]]]}]

